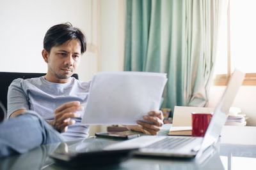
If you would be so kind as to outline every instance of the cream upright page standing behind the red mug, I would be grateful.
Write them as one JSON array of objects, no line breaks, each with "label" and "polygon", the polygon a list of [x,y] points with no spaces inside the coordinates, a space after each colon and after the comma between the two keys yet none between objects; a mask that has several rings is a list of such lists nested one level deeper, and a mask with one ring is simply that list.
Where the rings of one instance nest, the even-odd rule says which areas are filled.
[{"label": "cream upright page standing behind the red mug", "polygon": [[[175,106],[173,111],[172,126],[191,126],[191,113],[213,113],[214,108]],[[172,128],[171,128],[172,130]]]}]

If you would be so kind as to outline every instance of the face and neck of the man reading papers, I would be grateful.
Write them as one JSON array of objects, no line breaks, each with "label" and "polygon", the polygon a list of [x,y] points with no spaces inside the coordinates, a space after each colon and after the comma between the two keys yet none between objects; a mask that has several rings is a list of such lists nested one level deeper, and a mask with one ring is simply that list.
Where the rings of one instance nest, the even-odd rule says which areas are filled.
[{"label": "face and neck of the man reading papers", "polygon": [[48,64],[45,79],[54,83],[66,83],[79,66],[81,42],[79,39],[72,39],[60,46],[53,46],[50,53],[44,49],[42,55]]}]

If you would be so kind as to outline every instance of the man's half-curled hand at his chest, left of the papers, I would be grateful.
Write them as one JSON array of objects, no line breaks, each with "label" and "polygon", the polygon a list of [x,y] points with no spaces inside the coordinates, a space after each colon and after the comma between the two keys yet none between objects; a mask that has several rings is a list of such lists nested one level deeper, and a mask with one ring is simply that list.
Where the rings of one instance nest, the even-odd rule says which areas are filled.
[{"label": "man's half-curled hand at his chest, left of the papers", "polygon": [[65,103],[56,108],[54,120],[49,121],[49,124],[51,124],[59,132],[67,132],[68,125],[73,125],[76,123],[75,120],[70,120],[70,118],[80,117],[80,114],[76,113],[76,111],[82,110],[84,110],[84,108],[83,106],[80,106],[79,101]]}]

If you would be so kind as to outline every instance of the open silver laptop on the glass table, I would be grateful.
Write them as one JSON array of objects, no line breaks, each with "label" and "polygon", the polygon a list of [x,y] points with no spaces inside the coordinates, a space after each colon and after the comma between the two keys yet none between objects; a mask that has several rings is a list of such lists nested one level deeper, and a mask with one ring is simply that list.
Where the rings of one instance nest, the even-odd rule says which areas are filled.
[{"label": "open silver laptop on the glass table", "polygon": [[228,81],[227,88],[214,110],[211,122],[203,137],[191,136],[141,136],[106,146],[104,150],[138,148],[136,155],[161,157],[200,157],[209,146],[216,143],[227,120],[228,110],[243,83],[244,73],[237,69]]}]

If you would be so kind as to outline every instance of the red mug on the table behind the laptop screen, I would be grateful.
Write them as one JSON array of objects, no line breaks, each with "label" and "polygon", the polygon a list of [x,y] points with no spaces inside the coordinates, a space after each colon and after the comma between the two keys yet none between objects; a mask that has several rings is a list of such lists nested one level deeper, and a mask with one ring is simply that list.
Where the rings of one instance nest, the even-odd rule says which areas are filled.
[{"label": "red mug on the table behind the laptop screen", "polygon": [[192,136],[204,136],[212,113],[192,113]]}]

